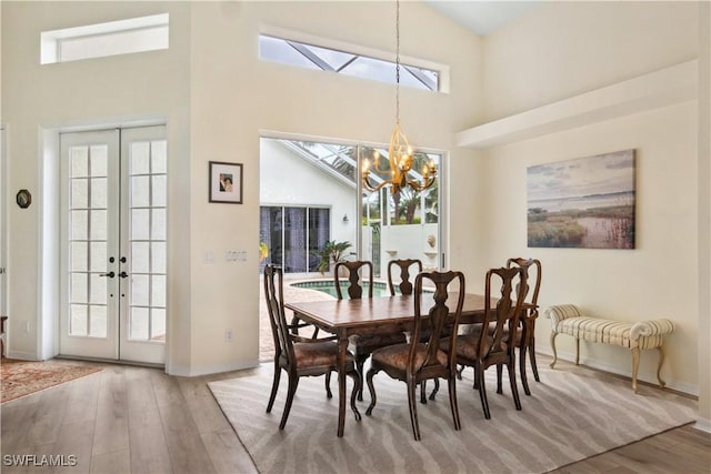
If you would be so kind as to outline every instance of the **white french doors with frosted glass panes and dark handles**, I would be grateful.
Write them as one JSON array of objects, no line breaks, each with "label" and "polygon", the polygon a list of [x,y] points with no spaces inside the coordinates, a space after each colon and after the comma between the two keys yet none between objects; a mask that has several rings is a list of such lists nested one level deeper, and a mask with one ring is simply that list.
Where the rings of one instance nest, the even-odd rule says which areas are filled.
[{"label": "white french doors with frosted glass panes and dark handles", "polygon": [[60,353],[164,363],[163,127],[63,133]]}]

